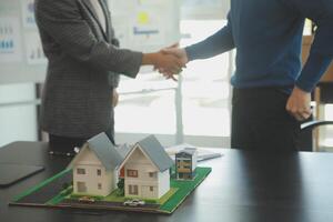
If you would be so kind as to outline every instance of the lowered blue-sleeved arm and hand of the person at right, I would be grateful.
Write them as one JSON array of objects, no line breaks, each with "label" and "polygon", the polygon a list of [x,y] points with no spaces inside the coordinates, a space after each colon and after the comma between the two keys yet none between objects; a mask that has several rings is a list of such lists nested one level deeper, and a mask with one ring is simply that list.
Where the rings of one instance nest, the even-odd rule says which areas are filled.
[{"label": "lowered blue-sleeved arm and hand of the person at right", "polygon": [[291,11],[301,18],[310,18],[317,26],[309,59],[290,95],[286,110],[297,120],[311,115],[311,91],[319,82],[333,57],[333,1],[332,0],[281,0]]}]

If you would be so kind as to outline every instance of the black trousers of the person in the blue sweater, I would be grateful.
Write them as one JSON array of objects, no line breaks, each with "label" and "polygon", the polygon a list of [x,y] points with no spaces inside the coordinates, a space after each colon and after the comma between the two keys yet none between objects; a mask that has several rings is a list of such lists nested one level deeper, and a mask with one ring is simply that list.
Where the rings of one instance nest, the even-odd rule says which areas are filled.
[{"label": "black trousers of the person in the blue sweater", "polygon": [[296,151],[300,122],[286,110],[289,94],[279,88],[234,89],[231,147]]}]

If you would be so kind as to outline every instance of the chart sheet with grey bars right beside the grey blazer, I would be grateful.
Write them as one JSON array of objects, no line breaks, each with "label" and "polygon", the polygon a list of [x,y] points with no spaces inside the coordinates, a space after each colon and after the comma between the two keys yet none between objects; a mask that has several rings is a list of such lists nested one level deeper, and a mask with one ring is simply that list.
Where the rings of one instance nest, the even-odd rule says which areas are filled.
[{"label": "chart sheet with grey bars right beside the grey blazer", "polygon": [[27,62],[28,64],[47,64],[38,32],[26,33]]}]

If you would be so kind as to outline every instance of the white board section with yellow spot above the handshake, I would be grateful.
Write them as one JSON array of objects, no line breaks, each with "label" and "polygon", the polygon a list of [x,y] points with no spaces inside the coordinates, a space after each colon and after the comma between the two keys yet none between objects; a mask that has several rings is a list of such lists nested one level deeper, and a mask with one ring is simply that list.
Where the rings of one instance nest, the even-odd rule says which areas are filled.
[{"label": "white board section with yellow spot above the handshake", "polygon": [[179,0],[109,0],[122,48],[152,52],[180,41]]}]

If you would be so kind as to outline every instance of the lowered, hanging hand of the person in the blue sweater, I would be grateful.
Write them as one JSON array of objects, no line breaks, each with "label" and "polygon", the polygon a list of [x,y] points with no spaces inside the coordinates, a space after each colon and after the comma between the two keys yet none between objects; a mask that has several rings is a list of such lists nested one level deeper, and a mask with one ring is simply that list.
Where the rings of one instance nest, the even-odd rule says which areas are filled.
[{"label": "lowered, hanging hand of the person in the blue sweater", "polygon": [[310,102],[311,93],[295,87],[286,102],[286,111],[296,120],[304,121],[309,119],[312,113]]}]

